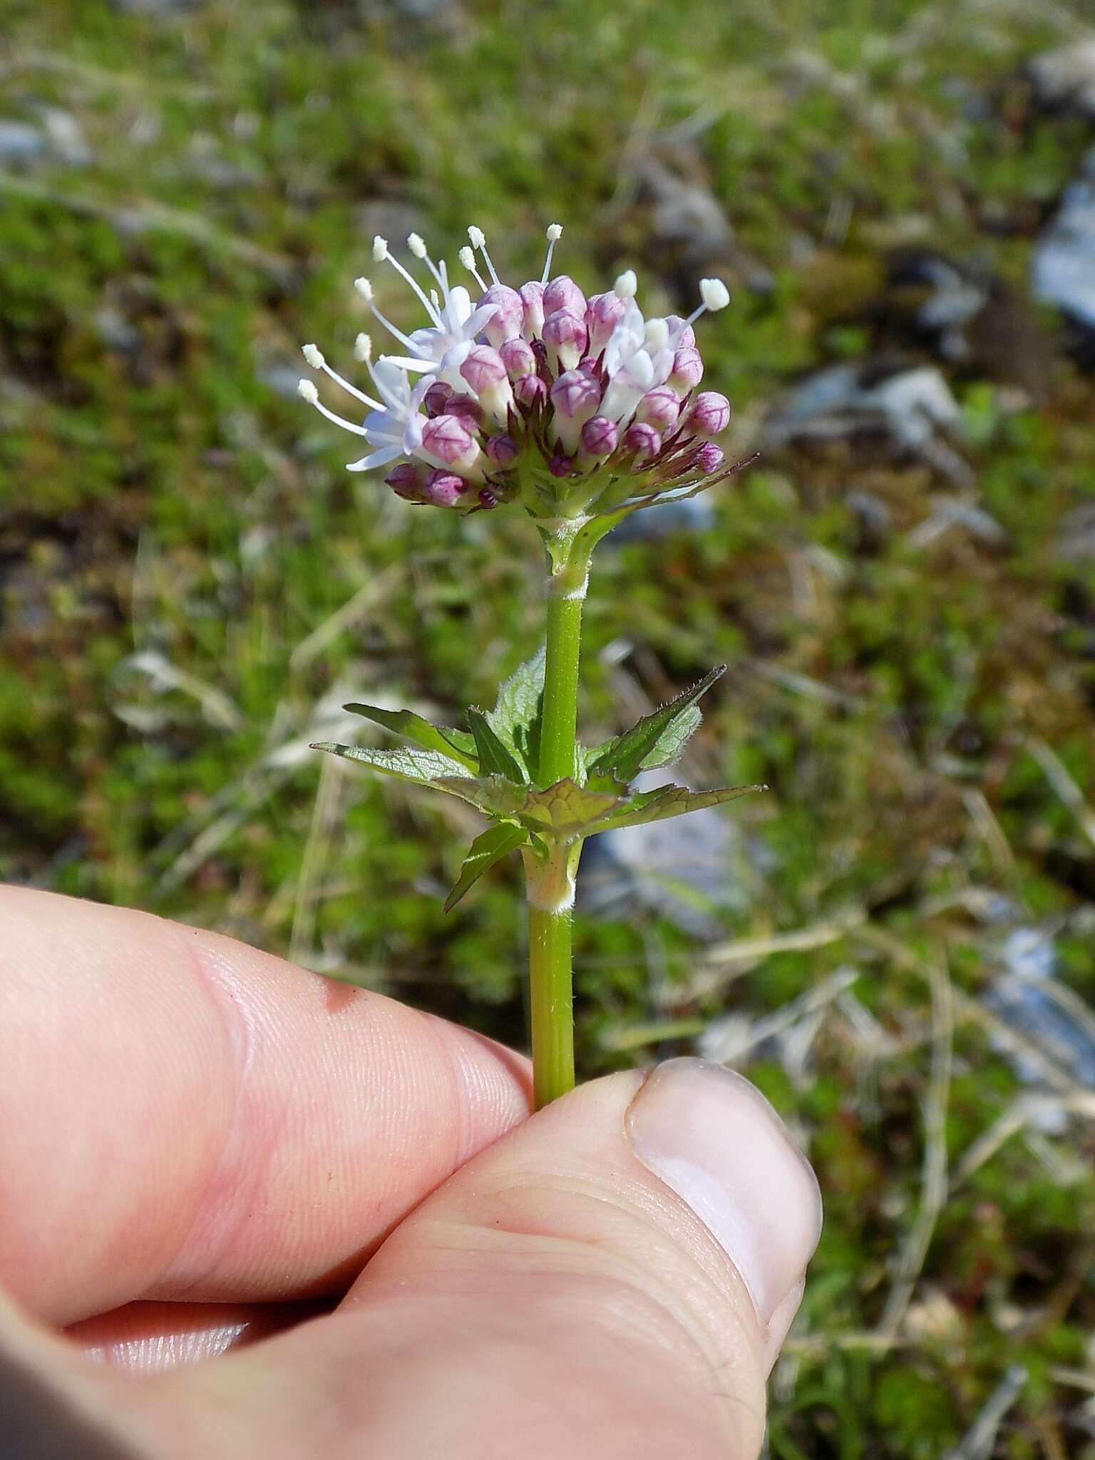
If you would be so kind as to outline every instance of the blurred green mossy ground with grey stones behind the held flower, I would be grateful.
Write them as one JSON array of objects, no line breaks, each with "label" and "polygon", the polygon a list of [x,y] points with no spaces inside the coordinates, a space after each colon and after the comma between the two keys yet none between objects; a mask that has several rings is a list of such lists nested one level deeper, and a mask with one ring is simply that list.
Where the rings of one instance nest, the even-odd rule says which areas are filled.
[{"label": "blurred green mossy ground with grey stones behind the held flower", "polygon": [[809,1149],[787,1460],[1095,1454],[1085,19],[0,0],[7,879],[521,1044],[517,869],[445,918],[472,813],[307,743],[492,702],[534,537],[347,476],[298,346],[349,359],[374,232],[476,222],[510,276],[561,219],[587,289],[733,283],[708,383],[762,460],[602,550],[583,720],[726,660],[685,774],[771,791],[590,848],[580,1051],[724,1058]]}]

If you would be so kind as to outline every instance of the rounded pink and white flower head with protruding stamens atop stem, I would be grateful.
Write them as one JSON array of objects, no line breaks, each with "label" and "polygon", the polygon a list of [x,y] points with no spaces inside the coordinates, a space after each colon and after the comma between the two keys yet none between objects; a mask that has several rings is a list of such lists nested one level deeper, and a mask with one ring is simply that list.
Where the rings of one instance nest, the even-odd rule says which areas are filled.
[{"label": "rounded pink and white flower head with protruding stamens atop stem", "polygon": [[688,318],[644,318],[632,270],[591,298],[566,274],[550,277],[558,223],[548,229],[543,276],[520,289],[499,280],[482,229],[467,234],[460,263],[477,304],[418,234],[407,248],[429,273],[425,288],[384,238],[374,239],[374,260],[403,277],[429,320],[404,334],[377,308],[369,280],[356,280],[402,346],[374,359],[369,336],[358,336],[355,355],[375,394],[304,346],[312,369],[366,407],[364,423],[347,420],[323,404],[314,381],[301,381],[307,402],[372,448],[350,472],[390,467],[387,483],[410,502],[470,511],[520,499],[534,515],[577,498],[596,511],[718,479],[723,451],[711,438],[726,429],[730,403],[698,388],[704,362],[692,326],[729,304],[721,279],[701,280]]}]

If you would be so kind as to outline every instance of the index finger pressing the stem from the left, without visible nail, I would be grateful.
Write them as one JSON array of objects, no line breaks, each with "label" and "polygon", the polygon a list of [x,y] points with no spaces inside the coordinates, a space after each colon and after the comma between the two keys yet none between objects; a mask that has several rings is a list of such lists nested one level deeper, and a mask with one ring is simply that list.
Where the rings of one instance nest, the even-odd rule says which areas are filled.
[{"label": "index finger pressing the stem from the left, without visible nail", "polygon": [[527,1111],[524,1061],[467,1029],[0,888],[0,1283],[48,1321],[331,1291]]}]

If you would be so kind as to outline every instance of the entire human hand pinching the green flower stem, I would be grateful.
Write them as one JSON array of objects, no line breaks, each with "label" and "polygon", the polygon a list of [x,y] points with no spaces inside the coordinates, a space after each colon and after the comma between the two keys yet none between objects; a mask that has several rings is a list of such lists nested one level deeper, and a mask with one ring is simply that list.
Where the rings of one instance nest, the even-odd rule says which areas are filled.
[{"label": "entire human hand pinching the green flower stem", "polygon": [[466,1029],[0,889],[0,1453],[750,1460],[806,1162],[696,1060],[527,1102]]}]

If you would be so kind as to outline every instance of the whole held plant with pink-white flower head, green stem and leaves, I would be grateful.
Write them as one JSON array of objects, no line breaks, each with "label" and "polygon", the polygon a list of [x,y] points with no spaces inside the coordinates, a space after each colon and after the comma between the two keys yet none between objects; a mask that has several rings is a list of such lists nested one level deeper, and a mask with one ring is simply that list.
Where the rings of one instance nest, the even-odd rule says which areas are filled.
[{"label": "whole held plant with pink-white flower head, green stem and leaves", "polygon": [[429,273],[425,288],[385,239],[374,239],[374,260],[402,276],[429,320],[404,334],[377,308],[369,280],[356,280],[403,350],[374,359],[369,336],[358,336],[355,356],[375,396],[339,375],[315,345],[304,346],[312,369],[366,407],[364,423],[323,404],[314,381],[302,380],[299,390],[372,447],[349,463],[350,472],[388,467],[385,482],[409,502],[458,512],[511,507],[533,520],[546,549],[546,641],[502,685],[492,711],[467,711],[466,730],[429,724],[409,710],[347,705],[409,748],[315,749],[458,796],[489,818],[447,910],[496,861],[521,853],[539,1107],[574,1085],[571,911],[584,840],[755,788],[632,787],[639,771],[677,759],[699,724],[696,701],[724,666],[623,734],[590,748],[577,740],[581,610],[593,549],[632,512],[692,496],[739,470],[724,466],[711,439],[726,429],[730,403],[696,388],[704,362],[692,328],[730,295],[720,279],[704,279],[701,304],[688,318],[645,318],[635,274],[626,270],[607,293],[587,299],[566,274],[550,277],[558,223],[548,229],[542,277],[512,289],[499,280],[482,229],[467,232],[460,261],[479,304],[466,286],[450,283],[444,260],[435,263],[416,234],[407,247]]}]

